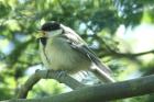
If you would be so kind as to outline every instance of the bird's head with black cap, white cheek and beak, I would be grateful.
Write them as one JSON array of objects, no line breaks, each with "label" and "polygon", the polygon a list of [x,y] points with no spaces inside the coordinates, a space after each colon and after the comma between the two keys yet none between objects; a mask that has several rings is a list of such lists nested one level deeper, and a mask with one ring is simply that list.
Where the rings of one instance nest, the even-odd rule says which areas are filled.
[{"label": "bird's head with black cap, white cheek and beak", "polygon": [[63,29],[61,27],[61,23],[55,22],[55,21],[50,21],[50,22],[44,23],[41,26],[37,38],[42,38],[42,37],[48,38],[54,35],[62,34],[62,32],[63,32]]}]

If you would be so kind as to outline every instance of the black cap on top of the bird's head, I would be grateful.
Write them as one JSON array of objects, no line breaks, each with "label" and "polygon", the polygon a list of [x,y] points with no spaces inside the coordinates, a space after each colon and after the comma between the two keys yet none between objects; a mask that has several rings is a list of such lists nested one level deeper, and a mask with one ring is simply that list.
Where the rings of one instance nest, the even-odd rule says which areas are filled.
[{"label": "black cap on top of the bird's head", "polygon": [[41,31],[55,31],[59,29],[61,29],[61,24],[58,22],[50,21],[42,25]]}]

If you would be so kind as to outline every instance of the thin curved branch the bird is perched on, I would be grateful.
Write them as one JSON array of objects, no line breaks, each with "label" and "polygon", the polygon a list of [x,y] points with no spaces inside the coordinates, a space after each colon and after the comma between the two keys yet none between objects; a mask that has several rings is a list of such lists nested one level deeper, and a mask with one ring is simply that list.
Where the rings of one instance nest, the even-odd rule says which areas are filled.
[{"label": "thin curved branch the bird is perched on", "polygon": [[72,89],[78,89],[85,87],[82,83],[78,82],[70,76],[65,72],[54,71],[54,70],[36,70],[34,75],[32,75],[26,82],[20,88],[18,98],[24,99],[28,95],[28,92],[33,88],[33,86],[38,82],[40,79],[55,79]]}]

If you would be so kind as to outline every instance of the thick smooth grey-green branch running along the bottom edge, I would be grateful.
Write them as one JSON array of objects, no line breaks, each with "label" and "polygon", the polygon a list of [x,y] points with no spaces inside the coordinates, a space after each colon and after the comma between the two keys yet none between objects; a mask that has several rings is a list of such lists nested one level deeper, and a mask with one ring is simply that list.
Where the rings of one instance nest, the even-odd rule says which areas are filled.
[{"label": "thick smooth grey-green branch running along the bottom edge", "polygon": [[14,99],[0,102],[105,102],[154,92],[154,75],[133,80],[85,87],[58,95],[40,99]]}]

